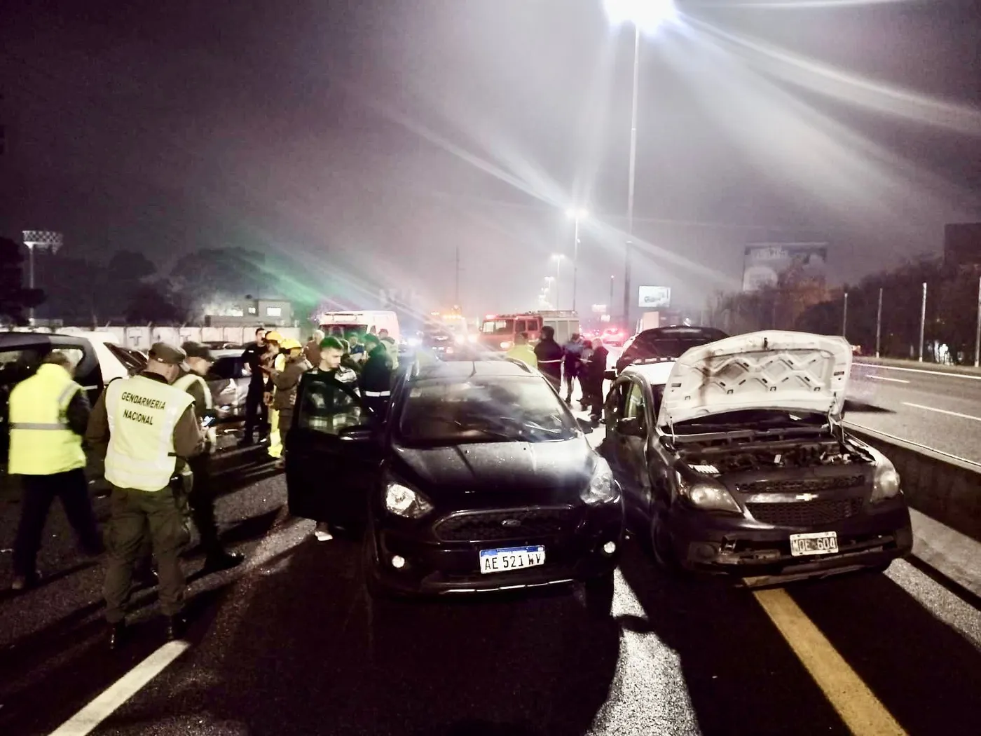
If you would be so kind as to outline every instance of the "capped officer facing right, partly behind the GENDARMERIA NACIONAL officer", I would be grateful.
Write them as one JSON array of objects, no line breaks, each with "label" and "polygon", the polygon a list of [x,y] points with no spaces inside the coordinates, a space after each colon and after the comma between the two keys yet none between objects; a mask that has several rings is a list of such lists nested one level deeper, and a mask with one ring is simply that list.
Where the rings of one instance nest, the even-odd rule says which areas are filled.
[{"label": "capped officer facing right, partly behind the GENDARMERIA NACIONAL officer", "polygon": [[234,567],[245,557],[238,552],[225,550],[219,539],[218,522],[215,520],[215,497],[209,465],[218,438],[214,426],[205,427],[208,422],[214,421],[215,411],[211,388],[203,378],[211,370],[214,359],[208,346],[199,342],[184,342],[181,349],[187,355],[187,362],[182,366],[181,376],[174,382],[174,388],[187,392],[194,399],[194,415],[205,435],[204,451],[187,462],[190,484],[185,490],[188,491],[187,502],[190,505],[191,518],[201,535],[201,549],[205,553],[202,571],[217,572]]}]

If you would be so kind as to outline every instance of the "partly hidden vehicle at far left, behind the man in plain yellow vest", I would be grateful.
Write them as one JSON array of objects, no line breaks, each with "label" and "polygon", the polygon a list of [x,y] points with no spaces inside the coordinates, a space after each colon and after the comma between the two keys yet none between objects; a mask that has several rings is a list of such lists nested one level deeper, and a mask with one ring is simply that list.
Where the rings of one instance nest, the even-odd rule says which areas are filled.
[{"label": "partly hidden vehicle at far left, behind the man in plain yellow vest", "polygon": [[34,375],[49,352],[61,350],[76,362],[75,380],[91,403],[110,381],[139,373],[146,356],[138,350],[106,342],[101,336],[0,332],[0,464],[6,466],[10,430],[7,402],[14,387]]}]

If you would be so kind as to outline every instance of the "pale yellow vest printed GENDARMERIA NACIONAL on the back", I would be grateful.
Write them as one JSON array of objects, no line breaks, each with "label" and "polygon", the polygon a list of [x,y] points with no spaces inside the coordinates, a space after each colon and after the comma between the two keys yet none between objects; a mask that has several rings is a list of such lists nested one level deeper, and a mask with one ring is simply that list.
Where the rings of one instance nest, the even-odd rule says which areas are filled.
[{"label": "pale yellow vest printed GENDARMERIA NACIONAL on the back", "polygon": [[160,491],[177,468],[174,428],[193,397],[145,376],[106,388],[106,480],[119,488]]}]

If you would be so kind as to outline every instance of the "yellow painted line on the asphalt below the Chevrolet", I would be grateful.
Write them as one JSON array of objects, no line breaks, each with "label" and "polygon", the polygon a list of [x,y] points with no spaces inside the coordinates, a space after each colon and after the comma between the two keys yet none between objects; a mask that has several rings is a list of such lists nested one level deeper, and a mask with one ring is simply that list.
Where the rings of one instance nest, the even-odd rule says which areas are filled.
[{"label": "yellow painted line on the asphalt below the Chevrolet", "polygon": [[854,736],[905,736],[896,718],[787,591],[771,588],[753,596]]}]

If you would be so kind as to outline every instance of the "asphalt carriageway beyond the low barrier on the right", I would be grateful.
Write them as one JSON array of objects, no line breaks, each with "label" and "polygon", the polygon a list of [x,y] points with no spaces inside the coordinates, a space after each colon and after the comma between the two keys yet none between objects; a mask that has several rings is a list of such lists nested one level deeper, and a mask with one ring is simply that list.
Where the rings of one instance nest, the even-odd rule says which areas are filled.
[{"label": "asphalt carriageway beyond the low barrier on the right", "polygon": [[981,376],[852,364],[847,420],[981,462]]}]

